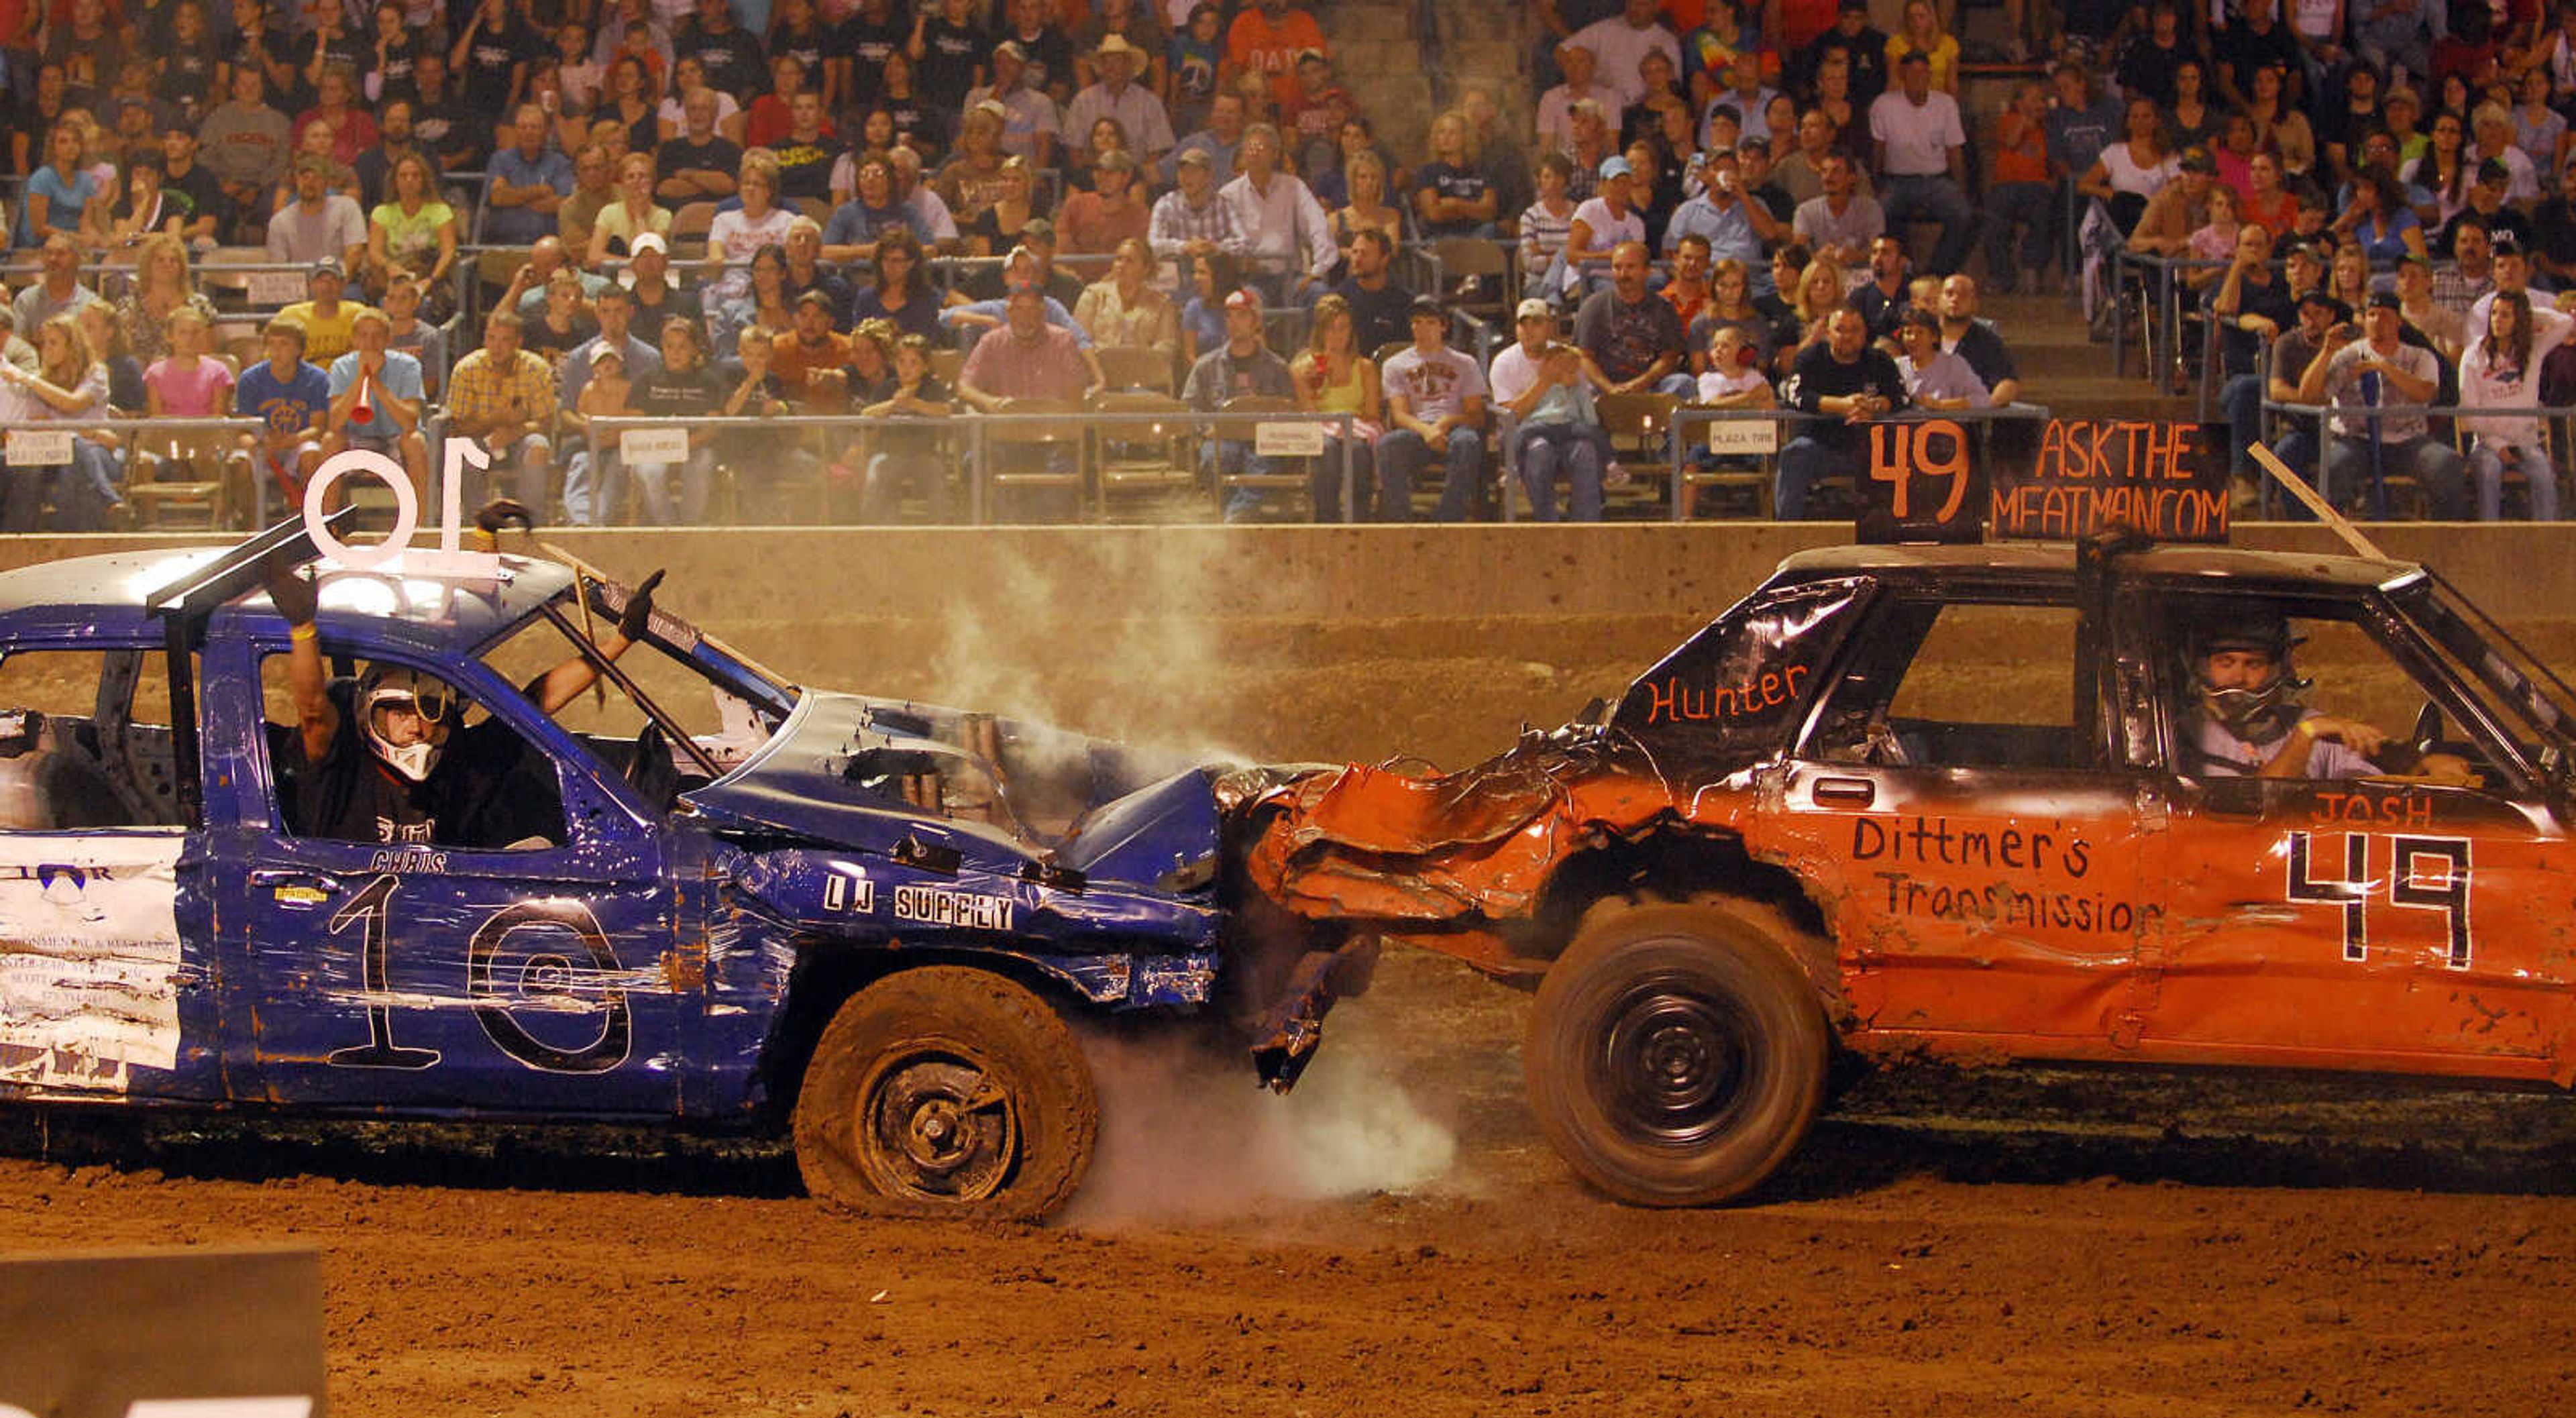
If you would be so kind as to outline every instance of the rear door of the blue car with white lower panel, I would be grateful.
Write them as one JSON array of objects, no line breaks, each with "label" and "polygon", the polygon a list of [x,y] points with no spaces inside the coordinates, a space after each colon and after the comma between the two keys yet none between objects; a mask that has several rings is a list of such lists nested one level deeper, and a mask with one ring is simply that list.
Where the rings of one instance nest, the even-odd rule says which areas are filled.
[{"label": "rear door of the blue car with white lower panel", "polygon": [[95,631],[0,654],[0,1091],[222,1096],[165,664]]}]

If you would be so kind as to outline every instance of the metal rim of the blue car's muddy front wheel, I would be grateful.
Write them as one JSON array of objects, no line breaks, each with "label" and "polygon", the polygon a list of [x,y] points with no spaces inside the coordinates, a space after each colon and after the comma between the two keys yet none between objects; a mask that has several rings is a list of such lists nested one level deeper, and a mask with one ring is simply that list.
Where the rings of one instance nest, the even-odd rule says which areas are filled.
[{"label": "metal rim of the blue car's muddy front wheel", "polygon": [[1020,1156],[1020,1114],[992,1071],[948,1050],[889,1058],[860,1086],[858,1161],[894,1197],[981,1202]]}]

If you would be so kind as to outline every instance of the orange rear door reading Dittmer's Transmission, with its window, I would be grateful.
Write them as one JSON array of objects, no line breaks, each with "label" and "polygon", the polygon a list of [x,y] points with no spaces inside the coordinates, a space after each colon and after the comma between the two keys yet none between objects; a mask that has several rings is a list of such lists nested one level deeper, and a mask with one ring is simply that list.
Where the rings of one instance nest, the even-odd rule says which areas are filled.
[{"label": "orange rear door reading Dittmer's Transmission, with its window", "polygon": [[[2143,826],[2079,728],[2063,587],[1891,587],[1777,769],[1865,1035],[2092,1053],[2128,1011]],[[1762,852],[1770,857],[1770,852]]]}]

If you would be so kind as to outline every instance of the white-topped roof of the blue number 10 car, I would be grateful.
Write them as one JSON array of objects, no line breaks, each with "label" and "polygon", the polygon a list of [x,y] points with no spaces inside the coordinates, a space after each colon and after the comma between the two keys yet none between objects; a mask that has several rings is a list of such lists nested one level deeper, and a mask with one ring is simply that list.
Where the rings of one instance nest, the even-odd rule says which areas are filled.
[{"label": "white-topped roof of the blue number 10 car", "polygon": [[[113,641],[157,638],[160,618],[144,610],[144,600],[222,553],[224,548],[211,546],[116,551],[0,571],[0,631],[10,636],[80,631]],[[572,569],[528,556],[502,556],[497,579],[340,571],[322,582],[317,620],[322,633],[332,638],[471,654],[569,584]],[[242,597],[219,612],[216,625],[242,625],[245,615],[252,618],[250,631],[276,625],[276,610],[265,592]]]}]

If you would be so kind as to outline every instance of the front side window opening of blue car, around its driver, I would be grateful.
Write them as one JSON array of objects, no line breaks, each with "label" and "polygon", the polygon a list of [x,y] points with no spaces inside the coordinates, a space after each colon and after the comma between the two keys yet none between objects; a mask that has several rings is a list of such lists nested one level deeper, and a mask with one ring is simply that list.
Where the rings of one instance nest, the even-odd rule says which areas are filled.
[{"label": "front side window opening of blue car, around its driver", "polygon": [[[335,674],[330,682],[332,703],[340,708],[335,757],[355,754],[355,767],[343,769],[304,759],[286,664],[283,651],[260,656],[270,800],[286,836],[422,842],[469,852],[533,852],[567,842],[556,764],[489,705],[459,692],[430,777],[404,787],[399,775],[376,762],[363,739],[358,692],[371,664],[358,661],[358,677]],[[397,803],[397,795],[404,803]]]}]

